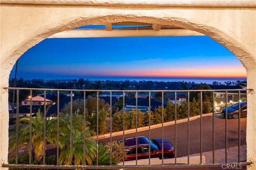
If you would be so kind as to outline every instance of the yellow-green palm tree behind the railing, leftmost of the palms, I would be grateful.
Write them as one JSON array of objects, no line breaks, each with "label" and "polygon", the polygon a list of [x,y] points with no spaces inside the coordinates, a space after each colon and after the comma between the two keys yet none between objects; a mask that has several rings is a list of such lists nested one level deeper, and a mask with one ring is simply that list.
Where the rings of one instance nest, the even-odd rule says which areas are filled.
[{"label": "yellow-green palm tree behind the railing, leftmost of the palms", "polygon": [[[46,146],[44,147],[44,116],[40,109],[36,113],[36,117],[32,117],[32,150],[34,150],[35,158],[40,162]],[[27,147],[28,152],[30,147],[30,116],[24,116],[18,120],[18,148]],[[52,146],[56,143],[57,137],[56,119],[46,119],[46,143],[50,143]],[[16,151],[16,125],[14,129],[10,131],[9,137],[9,153],[10,158],[15,156]]]}]

